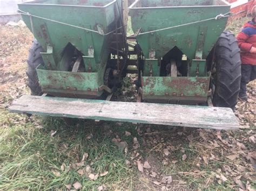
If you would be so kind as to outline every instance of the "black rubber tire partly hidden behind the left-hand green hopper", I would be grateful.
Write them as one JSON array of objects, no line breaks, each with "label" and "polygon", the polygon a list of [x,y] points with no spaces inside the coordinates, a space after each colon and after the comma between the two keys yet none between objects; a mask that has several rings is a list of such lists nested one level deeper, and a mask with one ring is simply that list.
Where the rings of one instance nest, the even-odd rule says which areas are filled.
[{"label": "black rubber tire partly hidden behind the left-hand green hopper", "polygon": [[42,89],[39,86],[38,76],[36,73],[36,68],[40,64],[44,65],[43,58],[41,56],[43,52],[42,46],[38,43],[36,39],[33,39],[32,45],[29,49],[28,58],[28,69],[26,70],[26,75],[28,75],[28,86],[31,90],[31,95],[42,95]]}]

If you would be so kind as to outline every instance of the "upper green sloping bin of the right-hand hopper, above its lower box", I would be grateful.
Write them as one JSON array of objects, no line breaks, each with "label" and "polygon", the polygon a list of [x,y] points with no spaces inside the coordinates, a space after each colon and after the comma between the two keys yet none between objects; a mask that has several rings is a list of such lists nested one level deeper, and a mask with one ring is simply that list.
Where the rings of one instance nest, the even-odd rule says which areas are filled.
[{"label": "upper green sloping bin of the right-hand hopper, above its lower box", "polygon": [[[218,1],[222,2],[222,5],[215,5],[215,2],[137,0],[130,6],[130,16],[134,33],[142,30],[136,38],[144,56],[149,58],[150,48],[154,46],[156,59],[160,59],[174,46],[177,46],[188,59],[195,59],[200,27],[206,26],[207,33],[203,46],[203,59],[206,59],[221,32],[225,29],[228,18],[215,19],[215,17],[230,11],[230,6],[224,1]],[[211,20],[200,22],[205,19]],[[152,27],[157,30],[172,28],[152,32],[156,33],[156,37],[152,36],[152,33],[143,34],[151,31]],[[152,45],[151,38],[156,39],[155,45]]]}]

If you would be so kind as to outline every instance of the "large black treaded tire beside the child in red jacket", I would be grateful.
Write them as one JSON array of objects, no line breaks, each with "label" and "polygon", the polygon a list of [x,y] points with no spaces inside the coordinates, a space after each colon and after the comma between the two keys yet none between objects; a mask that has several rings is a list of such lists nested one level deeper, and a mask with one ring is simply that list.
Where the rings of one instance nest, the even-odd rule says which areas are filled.
[{"label": "large black treaded tire beside the child in red jacket", "polygon": [[241,59],[237,39],[224,31],[215,45],[216,76],[213,105],[234,110],[241,81]]}]

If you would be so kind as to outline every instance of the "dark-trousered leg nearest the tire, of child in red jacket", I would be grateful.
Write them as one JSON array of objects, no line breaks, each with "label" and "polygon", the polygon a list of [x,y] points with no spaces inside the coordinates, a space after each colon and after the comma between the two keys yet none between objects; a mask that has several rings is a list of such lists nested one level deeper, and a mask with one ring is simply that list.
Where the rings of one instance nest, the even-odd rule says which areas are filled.
[{"label": "dark-trousered leg nearest the tire, of child in red jacket", "polygon": [[239,98],[240,100],[247,100],[246,95],[246,84],[250,81],[251,77],[251,69],[252,65],[241,65],[241,85],[240,85],[240,92],[239,92]]}]

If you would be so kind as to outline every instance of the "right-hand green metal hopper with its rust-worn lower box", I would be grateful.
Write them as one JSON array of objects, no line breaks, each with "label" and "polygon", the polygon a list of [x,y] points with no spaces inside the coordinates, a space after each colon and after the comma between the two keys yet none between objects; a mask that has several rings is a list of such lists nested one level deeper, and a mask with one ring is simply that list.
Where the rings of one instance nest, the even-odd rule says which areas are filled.
[{"label": "right-hand green metal hopper with its rust-worn lower box", "polygon": [[[225,1],[215,0],[137,0],[130,6],[132,29],[145,56],[144,100],[206,102],[206,58],[225,29],[229,11]],[[186,68],[180,77],[163,73],[172,60]]]}]

